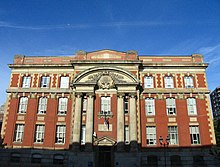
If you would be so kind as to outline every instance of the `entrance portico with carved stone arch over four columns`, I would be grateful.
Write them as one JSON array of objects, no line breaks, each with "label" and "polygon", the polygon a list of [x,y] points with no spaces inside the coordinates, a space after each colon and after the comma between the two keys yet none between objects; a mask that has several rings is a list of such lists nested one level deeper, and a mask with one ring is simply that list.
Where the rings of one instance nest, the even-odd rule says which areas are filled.
[{"label": "entrance portico with carved stone arch over four columns", "polygon": [[[138,86],[139,81],[135,76],[119,67],[99,66],[80,72],[73,81],[76,100],[72,142],[80,145],[81,127],[84,124],[86,150],[92,149],[92,145],[95,144],[94,137],[96,141],[107,137],[116,141],[118,151],[123,151],[126,124],[130,129],[131,150],[135,151],[138,143]],[[125,96],[129,99],[129,112],[126,116]],[[82,114],[83,97],[86,97],[86,115]]]}]

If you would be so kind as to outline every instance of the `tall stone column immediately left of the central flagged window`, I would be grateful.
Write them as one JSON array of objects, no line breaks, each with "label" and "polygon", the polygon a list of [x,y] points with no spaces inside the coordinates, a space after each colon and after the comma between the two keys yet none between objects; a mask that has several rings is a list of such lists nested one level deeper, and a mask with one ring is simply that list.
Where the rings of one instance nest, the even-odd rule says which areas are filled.
[{"label": "tall stone column immediately left of the central flagged window", "polygon": [[92,150],[93,144],[93,110],[94,110],[94,95],[87,96],[87,110],[86,110],[86,151]]}]

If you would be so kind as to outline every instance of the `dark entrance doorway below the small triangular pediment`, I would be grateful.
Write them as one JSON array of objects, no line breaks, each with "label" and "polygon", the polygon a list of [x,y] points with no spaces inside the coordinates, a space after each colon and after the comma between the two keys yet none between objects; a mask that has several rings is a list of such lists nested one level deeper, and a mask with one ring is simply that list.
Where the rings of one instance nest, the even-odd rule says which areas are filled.
[{"label": "dark entrance doorway below the small triangular pediment", "polygon": [[98,147],[98,155],[96,162],[98,167],[113,167],[112,147],[108,147],[108,146]]}]

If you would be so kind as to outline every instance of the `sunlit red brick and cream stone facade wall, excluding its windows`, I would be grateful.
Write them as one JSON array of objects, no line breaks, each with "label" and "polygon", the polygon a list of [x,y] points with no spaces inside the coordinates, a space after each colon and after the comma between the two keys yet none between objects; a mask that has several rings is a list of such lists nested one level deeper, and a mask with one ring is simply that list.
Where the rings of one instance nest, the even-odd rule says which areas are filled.
[{"label": "sunlit red brick and cream stone facade wall, excluding its windows", "polygon": [[[108,68],[106,69],[105,66]],[[91,87],[89,84],[86,86],[86,83],[88,81],[94,83],[91,77],[94,77],[93,79],[98,77],[96,80],[98,85],[101,76],[112,78],[113,86],[102,89],[97,88],[97,85],[91,87],[94,99],[93,132],[96,133],[94,142],[107,137],[117,144],[117,130],[120,128],[117,127],[119,126],[117,123],[118,96],[119,93],[124,93],[124,96],[130,98],[130,94],[133,93],[137,117],[135,133],[137,133],[137,143],[142,147],[159,147],[159,137],[166,138],[168,126],[178,128],[178,143],[171,144],[172,147],[215,144],[205,75],[207,64],[203,62],[201,55],[138,56],[134,51],[102,50],[90,53],[81,51],[76,56],[67,57],[16,56],[14,64],[9,67],[12,69],[12,74],[10,86],[7,89],[7,111],[1,133],[7,147],[68,149],[73,143],[72,138],[75,134],[73,129],[76,126],[74,124],[76,93],[81,91],[82,95],[86,96],[87,88]],[[97,76],[100,73],[102,73],[101,76]],[[24,76],[31,77],[28,88],[22,88]],[[47,88],[41,88],[43,76],[50,77]],[[70,86],[61,89],[61,77],[64,76],[69,77]],[[153,78],[153,88],[145,88],[145,76]],[[166,76],[173,78],[173,88],[165,88],[164,78]],[[185,76],[193,78],[192,88],[185,88]],[[124,81],[121,82],[120,79]],[[86,89],[83,89],[83,86]],[[106,121],[106,117],[100,116],[102,96],[110,97],[111,102],[112,117],[107,117],[110,126],[108,130],[102,129]],[[18,113],[21,97],[28,97],[26,113]],[[41,97],[47,98],[46,114],[38,114]],[[59,99],[63,97],[68,99],[67,111],[64,115],[58,115]],[[154,99],[155,114],[153,115],[146,114],[145,99],[147,98]],[[167,114],[167,98],[175,99],[175,114],[173,115]],[[197,113],[195,115],[188,114],[187,98],[196,99]],[[86,114],[83,112],[81,114],[81,125],[86,126]],[[133,118],[130,117],[130,112],[124,114],[123,126],[128,125],[130,128],[131,119]],[[15,141],[17,124],[24,125],[22,142]],[[45,127],[44,139],[41,143],[34,142],[36,125]],[[56,143],[56,131],[59,125],[65,126],[65,142],[63,143]],[[146,127],[148,126],[156,127],[156,144],[147,144]],[[190,126],[199,128],[198,144],[191,143]],[[130,133],[133,132],[130,131]]]}]

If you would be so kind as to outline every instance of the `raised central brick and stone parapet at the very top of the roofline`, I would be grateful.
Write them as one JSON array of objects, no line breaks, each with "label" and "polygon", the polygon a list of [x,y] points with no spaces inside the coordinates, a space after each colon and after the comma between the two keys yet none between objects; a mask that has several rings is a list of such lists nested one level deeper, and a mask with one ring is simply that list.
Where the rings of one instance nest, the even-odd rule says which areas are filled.
[{"label": "raised central brick and stone parapet at the very top of the roofline", "polygon": [[78,51],[76,58],[78,60],[137,60],[136,51],[120,52],[115,50],[99,50],[94,52]]}]

